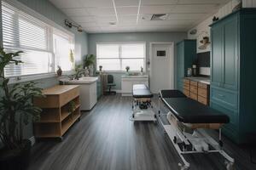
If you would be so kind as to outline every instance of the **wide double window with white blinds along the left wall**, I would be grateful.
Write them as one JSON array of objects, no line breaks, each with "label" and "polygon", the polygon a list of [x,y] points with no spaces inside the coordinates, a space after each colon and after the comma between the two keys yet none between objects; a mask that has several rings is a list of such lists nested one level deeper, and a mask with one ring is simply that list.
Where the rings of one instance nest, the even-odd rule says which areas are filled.
[{"label": "wide double window with white blinds along the left wall", "polygon": [[53,73],[56,65],[63,66],[63,71],[72,69],[71,62],[67,62],[73,49],[72,36],[61,34],[62,31],[5,2],[2,2],[2,19],[3,48],[8,52],[24,52],[16,58],[23,63],[5,67],[6,77]]}]

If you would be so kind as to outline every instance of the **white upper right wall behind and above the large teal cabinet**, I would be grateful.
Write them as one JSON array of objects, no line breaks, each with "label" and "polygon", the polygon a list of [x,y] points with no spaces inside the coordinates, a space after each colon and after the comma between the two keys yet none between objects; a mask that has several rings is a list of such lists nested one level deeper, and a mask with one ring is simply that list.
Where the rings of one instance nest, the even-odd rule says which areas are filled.
[{"label": "white upper right wall behind and above the large teal cabinet", "polygon": [[[244,1],[256,2],[256,0],[242,0],[242,3],[244,3]],[[240,2],[241,2],[241,0],[232,0],[232,1],[230,1],[230,3],[225,4],[222,8],[219,8],[218,13],[213,14],[212,16],[207,18],[207,20],[202,21],[199,25],[190,29],[189,31],[196,29],[197,33],[195,35],[190,35],[189,31],[188,31],[188,38],[189,39],[197,39],[197,47],[199,45],[201,45],[200,40],[202,39],[202,37],[205,37],[205,36],[210,37],[210,27],[209,27],[209,25],[212,24],[213,16],[217,16],[220,19],[220,18],[224,17],[225,15],[230,14],[232,12],[232,9],[234,7],[236,7],[236,5]],[[253,3],[250,3],[250,5],[251,4],[253,4]],[[207,48],[204,49],[204,50],[201,50],[201,49],[197,48],[197,53],[202,53],[202,52],[206,52],[206,51],[210,51],[210,50],[211,50],[211,46],[208,45]]]}]

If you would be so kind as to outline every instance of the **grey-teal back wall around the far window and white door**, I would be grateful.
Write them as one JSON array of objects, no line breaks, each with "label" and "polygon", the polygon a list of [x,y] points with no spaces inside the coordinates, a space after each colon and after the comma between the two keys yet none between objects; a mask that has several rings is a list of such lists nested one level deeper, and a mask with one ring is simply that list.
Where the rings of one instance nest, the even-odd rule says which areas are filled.
[{"label": "grey-teal back wall around the far window and white door", "polygon": [[[88,50],[89,54],[96,54],[96,42],[146,42],[146,58],[148,60],[150,42],[174,42],[174,44],[176,44],[177,42],[182,41],[186,37],[186,32],[137,32],[89,34],[88,40],[90,43],[88,45]],[[174,54],[174,56],[176,56],[176,47],[174,48]],[[176,60],[177,59],[175,59],[175,62]],[[125,75],[125,73],[111,72],[111,74],[113,74],[114,81],[116,83],[116,87],[114,89],[121,89],[121,76]]]}]

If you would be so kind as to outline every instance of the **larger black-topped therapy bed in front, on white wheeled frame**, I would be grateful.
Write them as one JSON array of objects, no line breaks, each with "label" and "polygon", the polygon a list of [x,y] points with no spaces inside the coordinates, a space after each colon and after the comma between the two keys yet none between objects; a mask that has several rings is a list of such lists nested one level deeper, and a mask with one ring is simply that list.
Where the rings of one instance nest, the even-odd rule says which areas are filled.
[{"label": "larger black-topped therapy bed in front, on white wheeled frame", "polygon": [[[160,113],[160,101],[168,108],[167,114]],[[181,169],[189,168],[189,162],[183,155],[210,152],[218,152],[224,156],[226,168],[233,169],[235,161],[224,152],[221,139],[221,126],[230,122],[228,116],[187,98],[178,90],[160,90],[159,116],[161,115],[165,115],[169,122],[164,124],[159,118],[183,161],[183,164],[179,163]],[[218,142],[212,139],[205,129],[218,129]]]}]

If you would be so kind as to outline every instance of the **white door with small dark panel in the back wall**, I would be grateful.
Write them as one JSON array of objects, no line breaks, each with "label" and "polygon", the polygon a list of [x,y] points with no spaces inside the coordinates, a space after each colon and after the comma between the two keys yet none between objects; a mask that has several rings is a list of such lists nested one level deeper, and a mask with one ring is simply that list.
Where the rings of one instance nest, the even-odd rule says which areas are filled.
[{"label": "white door with small dark panel in the back wall", "polygon": [[151,43],[150,90],[158,94],[161,89],[174,88],[174,59],[172,43]]}]

